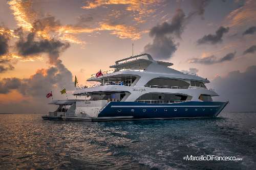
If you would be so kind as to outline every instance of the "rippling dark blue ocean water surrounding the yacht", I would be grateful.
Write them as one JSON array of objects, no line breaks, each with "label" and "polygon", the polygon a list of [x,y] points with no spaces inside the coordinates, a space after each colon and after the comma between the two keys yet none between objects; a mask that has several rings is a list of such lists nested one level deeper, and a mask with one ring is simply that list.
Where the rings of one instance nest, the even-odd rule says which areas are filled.
[{"label": "rippling dark blue ocean water surrounding the yacht", "polygon": [[[217,118],[62,122],[0,115],[0,169],[255,169],[256,113]],[[186,155],[242,161],[192,161]]]}]

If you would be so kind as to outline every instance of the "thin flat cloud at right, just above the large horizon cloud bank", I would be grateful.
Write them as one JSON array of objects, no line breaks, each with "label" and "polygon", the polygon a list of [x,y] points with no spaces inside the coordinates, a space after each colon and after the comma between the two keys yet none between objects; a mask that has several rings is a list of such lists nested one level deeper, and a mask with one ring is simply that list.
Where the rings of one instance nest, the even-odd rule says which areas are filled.
[{"label": "thin flat cloud at right, just above the large horizon cloud bank", "polygon": [[228,53],[224,57],[218,59],[215,55],[211,55],[203,58],[193,58],[189,60],[189,63],[199,63],[205,65],[211,65],[216,63],[222,63],[224,61],[231,61],[234,59],[236,52]]}]

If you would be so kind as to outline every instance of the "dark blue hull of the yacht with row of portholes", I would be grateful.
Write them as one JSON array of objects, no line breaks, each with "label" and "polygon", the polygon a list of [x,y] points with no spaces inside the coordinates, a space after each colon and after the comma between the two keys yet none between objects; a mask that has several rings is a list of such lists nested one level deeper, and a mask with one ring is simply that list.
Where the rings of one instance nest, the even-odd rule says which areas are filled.
[{"label": "dark blue hull of the yacht with row of portholes", "polygon": [[110,102],[94,120],[216,117],[227,103],[193,101],[170,104]]}]

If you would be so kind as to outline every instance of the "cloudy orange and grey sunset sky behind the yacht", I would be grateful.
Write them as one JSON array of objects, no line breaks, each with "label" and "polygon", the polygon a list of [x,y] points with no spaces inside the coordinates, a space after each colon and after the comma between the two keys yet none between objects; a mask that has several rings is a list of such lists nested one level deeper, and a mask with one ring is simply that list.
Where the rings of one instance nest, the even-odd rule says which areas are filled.
[{"label": "cloudy orange and grey sunset sky behind the yacht", "polygon": [[228,111],[256,111],[256,1],[0,1],[0,113],[47,113],[134,53],[207,78]]}]

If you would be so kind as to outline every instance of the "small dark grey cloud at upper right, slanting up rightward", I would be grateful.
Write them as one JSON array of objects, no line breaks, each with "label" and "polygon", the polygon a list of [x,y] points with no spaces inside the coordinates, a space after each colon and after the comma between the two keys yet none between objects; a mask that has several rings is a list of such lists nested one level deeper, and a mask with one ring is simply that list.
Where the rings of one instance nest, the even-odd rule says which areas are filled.
[{"label": "small dark grey cloud at upper right, slanting up rightward", "polygon": [[229,31],[229,28],[224,28],[224,27],[220,27],[217,31],[215,35],[212,34],[208,34],[203,36],[203,38],[200,38],[197,43],[200,44],[217,44],[219,42],[222,42],[222,37],[225,33],[227,33]]}]

